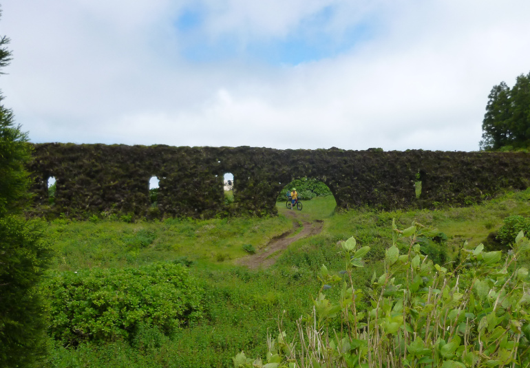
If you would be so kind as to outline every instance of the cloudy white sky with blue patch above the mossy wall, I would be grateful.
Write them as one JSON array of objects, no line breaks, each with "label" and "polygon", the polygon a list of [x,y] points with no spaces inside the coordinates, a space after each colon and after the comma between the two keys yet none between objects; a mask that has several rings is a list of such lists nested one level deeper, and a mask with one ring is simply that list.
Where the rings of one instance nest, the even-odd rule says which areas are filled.
[{"label": "cloudy white sky with blue patch above the mossy wall", "polygon": [[477,151],[528,0],[0,0],[32,142]]}]

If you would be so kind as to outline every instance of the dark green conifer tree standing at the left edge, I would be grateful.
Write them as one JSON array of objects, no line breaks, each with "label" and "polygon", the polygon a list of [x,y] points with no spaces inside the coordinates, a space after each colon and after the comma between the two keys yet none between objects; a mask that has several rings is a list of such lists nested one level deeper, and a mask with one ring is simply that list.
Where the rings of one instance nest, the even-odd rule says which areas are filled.
[{"label": "dark green conifer tree standing at the left edge", "polygon": [[[11,60],[9,41],[0,38],[0,69]],[[39,221],[20,216],[30,197],[25,164],[31,148],[27,133],[14,125],[13,113],[2,101],[0,92],[0,367],[30,367],[45,351],[36,285],[50,247],[41,237]]]}]

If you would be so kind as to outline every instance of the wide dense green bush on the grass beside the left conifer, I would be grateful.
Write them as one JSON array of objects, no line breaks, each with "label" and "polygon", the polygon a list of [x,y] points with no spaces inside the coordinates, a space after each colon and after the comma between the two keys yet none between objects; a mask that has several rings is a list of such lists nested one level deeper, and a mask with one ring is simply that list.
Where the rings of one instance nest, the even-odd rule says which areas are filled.
[{"label": "wide dense green bush on the grass beside the left conifer", "polygon": [[171,334],[202,316],[202,291],[178,264],[52,272],[44,289],[50,335],[65,344],[134,338],[140,323]]}]

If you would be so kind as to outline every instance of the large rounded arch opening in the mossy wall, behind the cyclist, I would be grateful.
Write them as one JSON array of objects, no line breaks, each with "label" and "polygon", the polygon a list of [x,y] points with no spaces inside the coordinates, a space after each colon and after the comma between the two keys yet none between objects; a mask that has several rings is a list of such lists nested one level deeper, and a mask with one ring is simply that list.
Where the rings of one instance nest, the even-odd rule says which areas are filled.
[{"label": "large rounded arch opening in the mossy wall, behind the cyclist", "polygon": [[296,189],[298,199],[303,202],[302,210],[318,211],[329,215],[335,211],[337,201],[330,188],[318,179],[311,177],[301,177],[293,180],[282,188],[276,199],[276,206],[279,210],[290,209],[288,196]]}]

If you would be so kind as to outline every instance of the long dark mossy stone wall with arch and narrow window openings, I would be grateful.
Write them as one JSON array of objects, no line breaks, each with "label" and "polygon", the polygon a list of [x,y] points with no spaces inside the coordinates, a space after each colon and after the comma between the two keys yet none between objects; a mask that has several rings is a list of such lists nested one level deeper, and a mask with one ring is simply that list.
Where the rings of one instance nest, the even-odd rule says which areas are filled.
[{"label": "long dark mossy stone wall with arch and narrow window openings", "polygon": [[[339,208],[391,210],[465,205],[530,183],[526,153],[277,150],[253,147],[169,147],[123,144],[34,144],[34,213],[136,217],[275,215],[276,198],[299,177],[324,182]],[[223,175],[234,175],[234,202],[224,203]],[[416,199],[419,173],[422,193]],[[158,208],[149,179],[158,177]],[[56,178],[48,205],[47,179]]]}]

